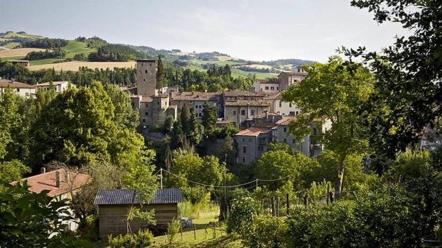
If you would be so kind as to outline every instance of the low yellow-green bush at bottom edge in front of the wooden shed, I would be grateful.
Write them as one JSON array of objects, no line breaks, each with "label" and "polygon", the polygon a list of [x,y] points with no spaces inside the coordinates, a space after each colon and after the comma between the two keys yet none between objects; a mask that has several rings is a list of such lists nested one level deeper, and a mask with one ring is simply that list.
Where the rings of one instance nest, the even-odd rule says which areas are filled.
[{"label": "low yellow-green bush at bottom edge in front of the wooden shed", "polygon": [[109,246],[111,248],[124,248],[124,247],[134,247],[143,248],[148,247],[153,243],[153,234],[149,230],[140,230],[137,234],[119,234],[115,238],[112,238],[112,234],[108,237]]}]

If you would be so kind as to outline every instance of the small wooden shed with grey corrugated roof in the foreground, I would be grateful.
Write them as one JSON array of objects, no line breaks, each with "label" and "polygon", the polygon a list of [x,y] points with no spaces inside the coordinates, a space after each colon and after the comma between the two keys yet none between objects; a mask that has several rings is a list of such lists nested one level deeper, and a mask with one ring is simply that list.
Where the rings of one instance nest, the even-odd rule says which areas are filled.
[{"label": "small wooden shed with grey corrugated roof in the foreground", "polygon": [[[129,222],[133,233],[139,229],[152,229],[154,234],[167,229],[167,224],[178,216],[177,204],[182,202],[181,189],[157,189],[150,203],[142,205],[142,211],[155,210],[156,225],[152,227],[146,221],[134,218]],[[126,216],[131,205],[140,207],[132,189],[100,189],[95,197],[94,205],[98,205],[99,238],[114,237],[126,234]]]}]

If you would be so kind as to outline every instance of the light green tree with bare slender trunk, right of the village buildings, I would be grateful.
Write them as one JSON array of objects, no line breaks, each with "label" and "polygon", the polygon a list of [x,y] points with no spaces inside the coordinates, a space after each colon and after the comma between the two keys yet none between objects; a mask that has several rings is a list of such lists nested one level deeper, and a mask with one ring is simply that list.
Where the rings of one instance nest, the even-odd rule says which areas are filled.
[{"label": "light green tree with bare slender trunk, right of the village buildings", "polygon": [[372,75],[358,63],[343,63],[332,56],[329,63],[314,63],[305,67],[307,78],[282,93],[284,101],[294,102],[302,113],[290,125],[290,132],[298,137],[310,134],[309,123],[318,118],[328,118],[332,128],[323,134],[327,149],[339,156],[336,193],[340,193],[345,158],[351,154],[367,152],[367,138],[362,128],[359,107],[372,92]]}]

